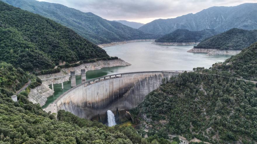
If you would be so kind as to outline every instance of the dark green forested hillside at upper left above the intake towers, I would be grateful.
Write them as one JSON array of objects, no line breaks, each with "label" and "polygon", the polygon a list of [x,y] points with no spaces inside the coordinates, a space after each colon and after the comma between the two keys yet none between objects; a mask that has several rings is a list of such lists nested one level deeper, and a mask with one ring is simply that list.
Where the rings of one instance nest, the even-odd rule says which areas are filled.
[{"label": "dark green forested hillside at upper left above the intake towers", "polygon": [[26,71],[107,57],[105,50],[48,18],[0,1],[0,59]]}]

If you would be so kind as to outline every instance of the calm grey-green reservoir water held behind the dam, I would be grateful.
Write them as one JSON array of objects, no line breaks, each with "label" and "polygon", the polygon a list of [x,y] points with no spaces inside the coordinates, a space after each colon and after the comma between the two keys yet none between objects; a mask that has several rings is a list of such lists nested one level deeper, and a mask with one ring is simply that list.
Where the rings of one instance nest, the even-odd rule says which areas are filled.
[{"label": "calm grey-green reservoir water held behind the dam", "polygon": [[[86,72],[86,80],[109,74],[154,70],[192,70],[194,67],[209,68],[212,64],[223,62],[230,55],[206,56],[204,53],[188,53],[193,45],[189,46],[161,46],[152,42],[132,42],[124,45],[105,47],[109,56],[118,56],[130,63],[130,66],[105,67],[100,70]],[[81,77],[76,77],[76,83],[81,83]],[[57,99],[62,93],[71,88],[70,81],[54,84],[54,94],[48,97],[42,108]],[[50,85],[50,88],[52,86]]]}]

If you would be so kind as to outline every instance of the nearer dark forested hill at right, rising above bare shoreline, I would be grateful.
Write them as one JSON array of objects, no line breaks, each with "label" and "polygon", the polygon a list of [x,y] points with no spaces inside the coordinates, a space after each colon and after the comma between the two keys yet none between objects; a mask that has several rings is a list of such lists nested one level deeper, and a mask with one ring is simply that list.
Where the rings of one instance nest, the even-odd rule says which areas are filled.
[{"label": "nearer dark forested hill at right, rising above bare shoreline", "polygon": [[257,42],[257,30],[233,28],[200,42],[194,48],[242,50]]}]

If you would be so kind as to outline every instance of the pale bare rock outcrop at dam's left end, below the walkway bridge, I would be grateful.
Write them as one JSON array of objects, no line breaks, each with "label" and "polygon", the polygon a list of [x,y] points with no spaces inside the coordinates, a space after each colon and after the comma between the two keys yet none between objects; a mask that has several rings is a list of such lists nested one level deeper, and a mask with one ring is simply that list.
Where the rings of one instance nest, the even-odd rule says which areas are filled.
[{"label": "pale bare rock outcrop at dam's left end, below the walkway bridge", "polygon": [[38,103],[40,104],[40,106],[43,106],[46,103],[47,97],[53,95],[53,93],[54,91],[51,90],[49,86],[41,84],[40,86],[37,86],[36,88],[30,90],[28,99],[33,104]]}]

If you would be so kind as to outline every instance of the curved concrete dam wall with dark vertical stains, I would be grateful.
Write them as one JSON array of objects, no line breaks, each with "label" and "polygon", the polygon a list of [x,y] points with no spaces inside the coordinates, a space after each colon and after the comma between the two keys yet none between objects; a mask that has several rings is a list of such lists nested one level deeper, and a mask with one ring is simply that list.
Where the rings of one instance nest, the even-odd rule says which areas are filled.
[{"label": "curved concrete dam wall with dark vertical stains", "polygon": [[91,79],[63,93],[45,111],[62,109],[81,118],[91,119],[107,110],[129,110],[136,107],[163,79],[183,71],[147,71],[107,75]]}]

